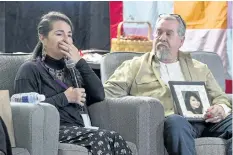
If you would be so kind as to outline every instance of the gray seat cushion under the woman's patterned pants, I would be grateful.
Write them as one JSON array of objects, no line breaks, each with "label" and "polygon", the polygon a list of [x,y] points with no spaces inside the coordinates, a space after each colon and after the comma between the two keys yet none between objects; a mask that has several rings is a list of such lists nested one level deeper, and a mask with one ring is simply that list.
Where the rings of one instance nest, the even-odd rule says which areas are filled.
[{"label": "gray seat cushion under the woman's patterned pants", "polygon": [[[137,147],[134,143],[127,142],[130,149],[133,151],[133,155],[137,155]],[[58,155],[88,155],[88,150],[85,147],[60,143],[58,146]]]}]

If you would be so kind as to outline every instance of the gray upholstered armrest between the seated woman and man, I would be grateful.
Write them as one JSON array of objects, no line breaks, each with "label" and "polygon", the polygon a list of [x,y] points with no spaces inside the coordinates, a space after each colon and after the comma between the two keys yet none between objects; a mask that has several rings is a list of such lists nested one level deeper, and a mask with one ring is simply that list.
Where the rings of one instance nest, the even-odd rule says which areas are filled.
[{"label": "gray upholstered armrest between the seated woman and man", "polygon": [[164,154],[164,109],[157,99],[107,98],[88,109],[93,126],[117,131],[136,144],[138,154]]}]

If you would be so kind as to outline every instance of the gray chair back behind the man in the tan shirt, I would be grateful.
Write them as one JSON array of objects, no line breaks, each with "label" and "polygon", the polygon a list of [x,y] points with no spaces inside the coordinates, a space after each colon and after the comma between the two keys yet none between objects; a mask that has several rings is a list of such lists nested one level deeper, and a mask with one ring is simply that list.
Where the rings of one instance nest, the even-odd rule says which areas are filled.
[{"label": "gray chair back behind the man in the tan shirt", "polygon": [[[106,54],[100,63],[101,80],[104,83],[124,61],[144,53],[114,52]],[[215,79],[225,91],[224,68],[221,58],[214,52],[195,51],[191,52],[193,59],[208,65]]]}]

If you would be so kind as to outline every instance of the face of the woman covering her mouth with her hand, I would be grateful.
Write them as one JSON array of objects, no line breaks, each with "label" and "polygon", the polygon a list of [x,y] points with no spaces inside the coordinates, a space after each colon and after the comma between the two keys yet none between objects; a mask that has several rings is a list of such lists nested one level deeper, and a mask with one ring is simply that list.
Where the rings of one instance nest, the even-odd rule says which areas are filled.
[{"label": "face of the woman covering her mouth with her hand", "polygon": [[73,44],[72,31],[69,24],[59,20],[52,23],[52,29],[49,31],[48,36],[40,36],[46,54],[54,59],[61,59],[64,54],[60,52],[59,43],[65,41],[68,44]]}]

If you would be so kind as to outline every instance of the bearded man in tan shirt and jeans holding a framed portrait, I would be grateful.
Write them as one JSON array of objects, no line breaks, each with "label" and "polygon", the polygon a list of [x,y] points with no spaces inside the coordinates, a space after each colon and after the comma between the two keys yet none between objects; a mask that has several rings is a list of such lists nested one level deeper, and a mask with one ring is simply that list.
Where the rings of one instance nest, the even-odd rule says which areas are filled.
[{"label": "bearded man in tan shirt and jeans holding a framed portrait", "polygon": [[[141,57],[125,61],[104,84],[106,97],[150,96],[165,109],[164,143],[170,155],[195,155],[195,138],[220,137],[228,140],[232,154],[232,103],[206,64],[179,48],[185,40],[186,24],[176,14],[160,15],[156,22],[153,49]],[[175,114],[168,81],[204,81],[211,107],[205,122],[190,123]]]}]

